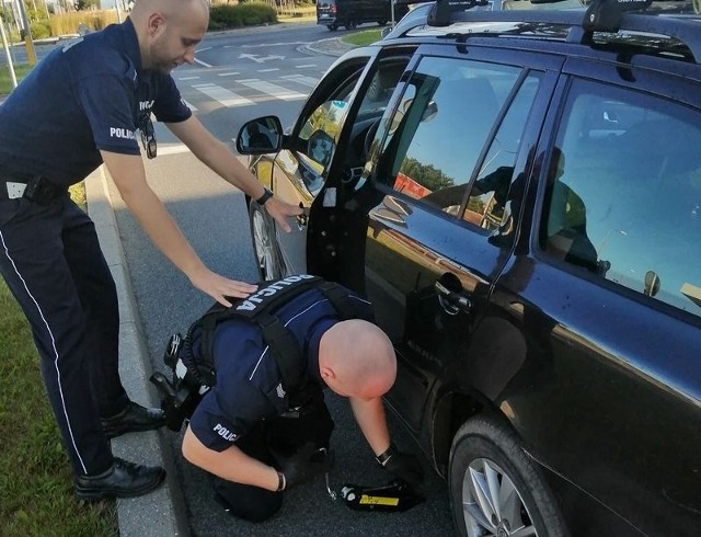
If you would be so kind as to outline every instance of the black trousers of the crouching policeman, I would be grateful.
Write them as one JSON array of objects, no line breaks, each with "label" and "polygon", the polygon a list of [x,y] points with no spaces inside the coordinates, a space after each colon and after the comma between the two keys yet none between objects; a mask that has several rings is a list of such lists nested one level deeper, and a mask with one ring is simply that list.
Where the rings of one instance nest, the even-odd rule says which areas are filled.
[{"label": "black trousers of the crouching policeman", "polygon": [[[308,442],[329,447],[334,423],[321,399],[298,418],[278,416],[262,420],[235,446],[243,453],[276,469],[279,460],[294,455]],[[264,522],[279,511],[283,493],[260,487],[234,483],[212,476],[216,500],[227,512],[249,522]]]}]

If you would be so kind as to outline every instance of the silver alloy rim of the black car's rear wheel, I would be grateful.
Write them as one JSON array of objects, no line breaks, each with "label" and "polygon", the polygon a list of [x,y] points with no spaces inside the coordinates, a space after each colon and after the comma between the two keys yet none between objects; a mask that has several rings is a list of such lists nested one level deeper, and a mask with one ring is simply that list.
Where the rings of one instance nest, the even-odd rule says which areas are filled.
[{"label": "silver alloy rim of the black car's rear wheel", "polygon": [[538,536],[520,492],[493,460],[474,459],[462,479],[468,537]]}]

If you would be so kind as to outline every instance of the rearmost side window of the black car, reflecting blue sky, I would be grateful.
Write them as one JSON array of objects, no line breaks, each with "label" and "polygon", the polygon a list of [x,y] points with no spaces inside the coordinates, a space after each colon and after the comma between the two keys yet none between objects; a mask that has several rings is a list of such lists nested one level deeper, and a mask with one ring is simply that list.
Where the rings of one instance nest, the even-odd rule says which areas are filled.
[{"label": "rearmost side window of the black car, reflecting blue sky", "polygon": [[701,313],[699,147],[698,110],[576,81],[550,159],[544,250]]}]

